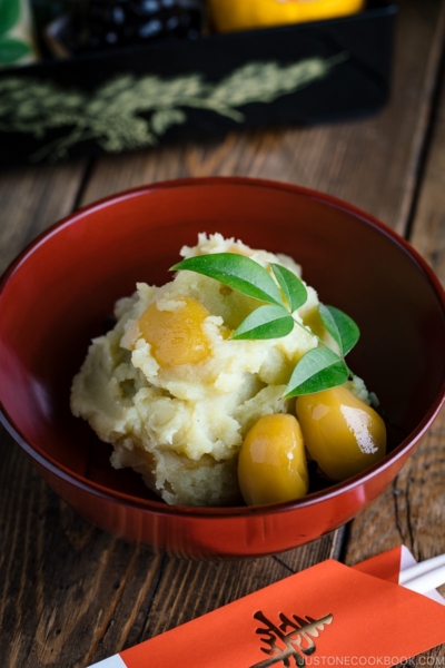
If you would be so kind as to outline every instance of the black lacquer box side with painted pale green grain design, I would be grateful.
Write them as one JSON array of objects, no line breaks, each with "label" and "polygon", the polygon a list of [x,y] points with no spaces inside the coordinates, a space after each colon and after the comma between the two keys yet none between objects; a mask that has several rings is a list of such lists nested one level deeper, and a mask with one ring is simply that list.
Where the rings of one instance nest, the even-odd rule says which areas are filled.
[{"label": "black lacquer box side with painted pale green grain design", "polygon": [[265,30],[117,48],[0,71],[0,166],[118,154],[377,112],[396,4]]}]

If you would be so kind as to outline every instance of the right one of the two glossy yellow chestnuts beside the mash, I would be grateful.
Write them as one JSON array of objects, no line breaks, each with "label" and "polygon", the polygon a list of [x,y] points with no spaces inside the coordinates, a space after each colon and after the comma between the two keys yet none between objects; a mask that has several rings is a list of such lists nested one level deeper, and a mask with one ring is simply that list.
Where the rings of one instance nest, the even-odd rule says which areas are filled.
[{"label": "right one of the two glossy yellow chestnuts beside the mash", "polygon": [[296,411],[307,451],[332,480],[360,473],[386,453],[384,421],[344,385],[299,396]]}]

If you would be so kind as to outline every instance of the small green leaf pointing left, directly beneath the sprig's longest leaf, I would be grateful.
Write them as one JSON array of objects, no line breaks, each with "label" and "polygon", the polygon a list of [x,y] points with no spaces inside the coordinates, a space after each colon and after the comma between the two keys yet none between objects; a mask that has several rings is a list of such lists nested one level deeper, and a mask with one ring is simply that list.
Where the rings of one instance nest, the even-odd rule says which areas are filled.
[{"label": "small green leaf pointing left, directly beneath the sprig's longest leaf", "polygon": [[284,306],[267,304],[253,311],[231,338],[281,338],[294,330],[294,318]]}]

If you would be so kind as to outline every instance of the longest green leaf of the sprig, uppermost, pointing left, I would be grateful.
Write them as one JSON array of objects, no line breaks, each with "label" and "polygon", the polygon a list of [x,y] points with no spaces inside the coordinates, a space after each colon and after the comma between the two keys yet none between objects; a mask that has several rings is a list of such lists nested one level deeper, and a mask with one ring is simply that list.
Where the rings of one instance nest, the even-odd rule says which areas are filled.
[{"label": "longest green leaf of the sprig, uppermost, pointing left", "polygon": [[270,274],[245,255],[236,253],[197,255],[179,262],[171,269],[188,269],[204,274],[255,299],[283,305],[278,286]]}]

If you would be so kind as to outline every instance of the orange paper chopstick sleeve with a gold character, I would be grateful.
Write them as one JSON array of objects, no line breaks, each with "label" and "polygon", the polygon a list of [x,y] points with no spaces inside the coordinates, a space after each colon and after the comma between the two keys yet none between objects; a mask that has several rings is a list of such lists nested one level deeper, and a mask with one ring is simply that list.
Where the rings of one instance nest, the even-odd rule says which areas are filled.
[{"label": "orange paper chopstick sleeve with a gold character", "polygon": [[397,583],[413,563],[403,546],[323,561],[95,668],[393,666],[445,642],[445,600]]}]

